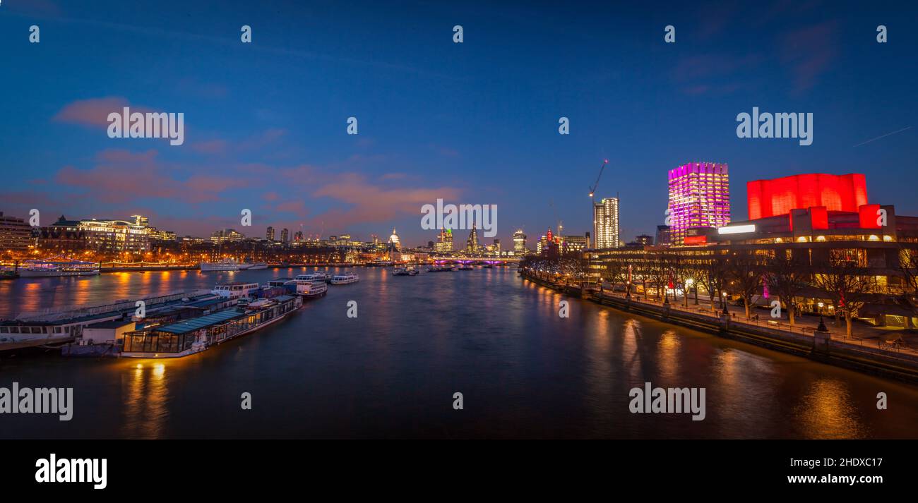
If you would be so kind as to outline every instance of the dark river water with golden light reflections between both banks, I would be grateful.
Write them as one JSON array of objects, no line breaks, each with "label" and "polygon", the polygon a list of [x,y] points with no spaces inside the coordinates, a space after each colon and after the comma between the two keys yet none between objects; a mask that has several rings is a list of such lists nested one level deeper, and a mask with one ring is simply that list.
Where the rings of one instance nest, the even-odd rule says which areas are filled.
[{"label": "dark river water with golden light reflections between both banks", "polygon": [[[0,318],[304,271],[20,278],[0,282]],[[916,386],[579,299],[561,318],[565,297],[514,268],[353,271],[360,283],[182,359],[0,354],[0,387],[74,395],[70,421],[0,414],[0,438],[918,437]],[[629,391],[645,382],[705,388],[705,418],[630,412]]]}]

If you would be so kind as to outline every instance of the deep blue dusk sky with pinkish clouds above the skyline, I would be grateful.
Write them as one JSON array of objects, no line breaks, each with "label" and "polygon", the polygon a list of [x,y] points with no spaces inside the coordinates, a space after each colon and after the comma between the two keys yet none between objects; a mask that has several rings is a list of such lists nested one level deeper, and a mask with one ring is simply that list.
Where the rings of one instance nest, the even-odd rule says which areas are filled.
[{"label": "deep blue dusk sky with pinkish clouds above the skyline", "polygon": [[[681,4],[3,0],[0,211],[415,245],[442,197],[497,205],[509,243],[588,230],[609,159],[597,192],[621,196],[625,240],[693,161],[729,164],[734,219],[745,182],[814,172],[866,173],[870,202],[918,215],[918,7]],[[183,112],[185,144],[109,139],[121,106]],[[812,146],[738,139],[753,106],[812,112]]]}]

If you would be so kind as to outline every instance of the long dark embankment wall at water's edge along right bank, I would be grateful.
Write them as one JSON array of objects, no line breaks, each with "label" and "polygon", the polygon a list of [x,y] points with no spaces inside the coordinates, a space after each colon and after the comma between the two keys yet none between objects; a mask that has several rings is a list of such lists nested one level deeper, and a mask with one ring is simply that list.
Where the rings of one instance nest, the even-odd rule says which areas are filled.
[{"label": "long dark embankment wall at water's edge along right bank", "polygon": [[[828,332],[806,329],[800,333],[793,327],[767,321],[738,319],[735,313],[677,307],[674,304],[645,302],[637,296],[624,296],[594,287],[555,283],[536,275],[521,272],[523,279],[551,288],[568,296],[589,300],[603,306],[637,314],[666,323],[712,333],[725,339],[742,341],[779,352],[796,354],[820,363],[828,363],[865,374],[879,375],[909,383],[918,383],[918,353],[909,350],[884,349],[878,342],[873,348],[855,340],[839,341]],[[790,330],[787,330],[787,329]]]}]

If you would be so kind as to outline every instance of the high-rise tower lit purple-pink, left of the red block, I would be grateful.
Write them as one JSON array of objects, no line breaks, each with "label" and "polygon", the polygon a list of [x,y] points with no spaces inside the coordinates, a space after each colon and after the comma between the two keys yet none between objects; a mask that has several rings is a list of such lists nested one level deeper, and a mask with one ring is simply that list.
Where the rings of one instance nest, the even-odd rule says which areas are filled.
[{"label": "high-rise tower lit purple-pink, left of the red block", "polygon": [[669,240],[683,244],[688,229],[730,223],[730,178],[727,165],[689,162],[669,170]]}]

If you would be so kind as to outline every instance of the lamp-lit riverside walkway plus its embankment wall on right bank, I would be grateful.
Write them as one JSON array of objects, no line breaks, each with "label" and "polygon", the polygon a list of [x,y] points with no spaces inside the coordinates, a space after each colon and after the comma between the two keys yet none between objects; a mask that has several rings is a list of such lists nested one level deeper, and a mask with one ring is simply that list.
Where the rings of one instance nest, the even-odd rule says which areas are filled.
[{"label": "lamp-lit riverside walkway plus its embankment wall on right bank", "polygon": [[[521,276],[565,295],[621,311],[867,374],[918,383],[918,351],[899,341],[890,341],[890,337],[898,339],[895,332],[858,324],[852,330],[852,337],[846,337],[844,320],[839,327],[832,327],[834,319],[831,317],[825,319],[828,330],[821,331],[817,330],[819,319],[813,317],[798,317],[791,327],[786,319],[768,317],[767,310],[758,310],[758,316],[747,319],[744,307],[728,306],[728,314],[723,314],[722,307],[715,304],[711,308],[711,303],[702,299],[695,305],[694,299],[689,298],[689,307],[686,307],[683,297],[661,302],[634,294],[629,297],[596,285],[556,282],[526,271],[521,271]],[[765,316],[762,316],[763,313]]]}]

